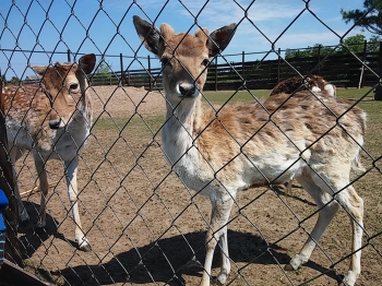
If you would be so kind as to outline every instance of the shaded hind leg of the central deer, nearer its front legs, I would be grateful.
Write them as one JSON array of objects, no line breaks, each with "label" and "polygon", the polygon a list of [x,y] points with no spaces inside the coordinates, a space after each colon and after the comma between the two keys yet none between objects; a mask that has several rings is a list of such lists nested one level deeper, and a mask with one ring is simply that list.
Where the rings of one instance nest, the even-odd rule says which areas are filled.
[{"label": "shaded hind leg of the central deer, nearer its front legs", "polygon": [[[326,227],[330,225],[332,218],[338,211],[338,204],[332,200],[332,196],[323,192],[314,182],[307,177],[298,178],[302,188],[308,191],[308,193],[314,200],[319,211],[319,218],[311,234],[309,235],[306,243],[298,254],[296,254],[285,266],[286,270],[298,270],[302,264],[309,261],[318,241],[324,234]],[[332,202],[331,202],[332,201]]]}]

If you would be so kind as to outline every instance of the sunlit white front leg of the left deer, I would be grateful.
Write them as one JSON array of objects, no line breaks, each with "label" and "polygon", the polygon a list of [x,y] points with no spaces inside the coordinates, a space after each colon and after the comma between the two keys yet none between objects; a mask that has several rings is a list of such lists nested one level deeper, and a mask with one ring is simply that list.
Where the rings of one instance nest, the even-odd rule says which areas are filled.
[{"label": "sunlit white front leg of the left deer", "polygon": [[74,235],[75,240],[79,243],[80,250],[88,252],[91,251],[91,246],[85,237],[85,234],[82,230],[79,203],[77,203],[77,182],[76,182],[76,172],[79,167],[79,157],[76,156],[70,162],[65,162],[65,178],[69,201],[72,208],[73,219],[74,219]]}]

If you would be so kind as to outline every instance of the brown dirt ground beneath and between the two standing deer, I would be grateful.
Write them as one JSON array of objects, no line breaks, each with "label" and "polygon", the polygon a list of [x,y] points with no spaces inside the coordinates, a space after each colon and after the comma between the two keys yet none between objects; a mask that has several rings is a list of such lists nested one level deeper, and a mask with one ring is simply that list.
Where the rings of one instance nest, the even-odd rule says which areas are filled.
[{"label": "brown dirt ground beneath and between the two standing deer", "polygon": [[[165,115],[163,95],[117,86],[96,86],[92,94],[96,124],[77,175],[81,221],[92,251],[76,249],[63,168],[60,162],[50,162],[55,187],[48,196],[46,233],[37,235],[28,227],[20,234],[31,269],[47,270],[61,285],[199,285],[211,206],[206,198],[195,196],[182,184],[160,150],[157,120]],[[34,188],[33,162],[26,158],[19,164],[20,189]],[[368,176],[373,175],[362,180],[368,181]],[[375,202],[369,192],[360,193],[365,212],[381,214],[381,196]],[[374,210],[368,206],[372,201]],[[39,195],[27,195],[24,203],[36,219]],[[298,271],[284,271],[312,229],[314,212],[313,201],[299,186],[288,195],[283,188],[242,192],[228,227],[227,285],[338,285],[351,252],[350,224],[343,210],[311,260]],[[381,221],[366,215],[371,233],[380,225]],[[370,241],[374,247],[362,250],[357,285],[382,285],[381,236]],[[215,254],[213,275],[219,269],[218,249]]]}]

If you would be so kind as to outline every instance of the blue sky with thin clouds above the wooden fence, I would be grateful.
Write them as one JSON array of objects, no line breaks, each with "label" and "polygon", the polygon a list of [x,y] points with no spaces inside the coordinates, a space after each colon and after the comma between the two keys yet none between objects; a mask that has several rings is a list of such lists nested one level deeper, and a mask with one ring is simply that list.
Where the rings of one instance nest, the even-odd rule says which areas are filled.
[{"label": "blue sky with thin clouds above the wooden fence", "polygon": [[[124,69],[141,69],[142,64],[147,67],[146,58],[150,53],[143,47],[139,49],[141,43],[132,25],[132,16],[135,14],[155,20],[156,26],[163,22],[169,23],[177,33],[190,28],[194,33],[196,15],[198,24],[207,27],[210,32],[240,22],[232,41],[223,55],[259,52],[248,56],[248,60],[262,59],[265,53],[261,52],[271,50],[271,43],[275,40],[275,47],[284,50],[315,44],[337,45],[341,37],[356,34],[365,34],[367,39],[371,36],[358,27],[351,28],[351,24],[345,24],[339,12],[342,8],[361,9],[363,0],[311,0],[310,11],[303,11],[306,2],[302,0],[256,0],[253,3],[250,0],[183,0],[184,5],[176,0],[99,1],[16,0],[13,4],[12,0],[1,0],[2,74],[8,80],[12,76],[24,79],[25,75],[34,74],[27,64],[67,61],[64,52],[68,49],[73,56],[87,52],[106,55],[106,61],[117,71],[120,70],[120,53],[126,57]],[[244,10],[255,27],[244,17]],[[294,24],[280,36],[294,20]],[[142,57],[141,63],[134,59],[134,55]],[[266,59],[274,57],[275,55],[268,55]],[[240,61],[241,56],[226,59]],[[158,60],[154,59],[152,65],[158,67]]]}]

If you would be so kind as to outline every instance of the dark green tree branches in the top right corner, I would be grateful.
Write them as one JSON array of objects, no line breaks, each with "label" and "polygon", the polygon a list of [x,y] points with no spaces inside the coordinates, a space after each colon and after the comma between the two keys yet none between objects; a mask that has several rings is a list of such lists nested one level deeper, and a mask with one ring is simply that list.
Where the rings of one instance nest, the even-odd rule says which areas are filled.
[{"label": "dark green tree branches in the top right corner", "polygon": [[345,11],[341,9],[345,23],[354,22],[357,26],[366,28],[370,33],[382,35],[382,1],[365,0],[365,10]]}]

